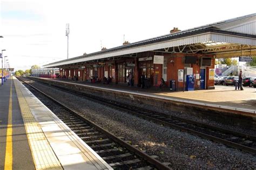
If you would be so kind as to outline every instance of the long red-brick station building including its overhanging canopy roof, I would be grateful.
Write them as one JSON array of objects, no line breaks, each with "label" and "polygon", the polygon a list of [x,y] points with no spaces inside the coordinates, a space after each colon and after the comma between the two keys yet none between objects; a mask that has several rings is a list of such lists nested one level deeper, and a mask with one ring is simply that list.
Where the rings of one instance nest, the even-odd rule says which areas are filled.
[{"label": "long red-brick station building including its overhanging canopy roof", "polygon": [[[59,68],[60,76],[79,81],[98,82],[111,77],[112,83],[125,84],[129,72],[134,86],[145,74],[147,85],[163,78],[178,91],[186,87],[186,75],[194,77],[194,89],[214,89],[216,58],[256,55],[256,13],[169,34],[125,42],[122,46],[44,65]],[[185,80],[185,81],[184,81]]]}]

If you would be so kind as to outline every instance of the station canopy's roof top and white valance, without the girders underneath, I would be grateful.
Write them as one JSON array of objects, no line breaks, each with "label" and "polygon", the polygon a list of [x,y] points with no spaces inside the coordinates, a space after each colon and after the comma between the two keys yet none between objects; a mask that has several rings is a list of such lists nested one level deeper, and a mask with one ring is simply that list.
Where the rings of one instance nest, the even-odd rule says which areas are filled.
[{"label": "station canopy's roof top and white valance, without the girders underneath", "polygon": [[256,46],[256,13],[113,47],[112,49],[90,53],[85,56],[60,60],[59,62],[44,66],[56,67],[65,64],[199,43],[204,44],[206,47],[214,45],[214,43],[216,45],[230,43]]}]

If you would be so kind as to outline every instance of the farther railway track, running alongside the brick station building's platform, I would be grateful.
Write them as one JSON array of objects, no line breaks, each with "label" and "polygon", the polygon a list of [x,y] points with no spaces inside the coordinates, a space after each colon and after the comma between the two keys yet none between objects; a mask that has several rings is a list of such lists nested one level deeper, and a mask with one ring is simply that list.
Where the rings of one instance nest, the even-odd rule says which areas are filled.
[{"label": "farther railway track, running alongside the brick station building's platform", "polygon": [[178,130],[181,130],[181,131],[199,135],[200,137],[210,139],[216,142],[220,142],[227,146],[241,149],[242,151],[245,151],[245,152],[256,154],[256,137],[252,135],[238,133],[231,130],[226,130],[224,128],[219,128],[219,127],[202,124],[202,123],[198,123],[198,122],[187,120],[187,119],[173,117],[171,115],[166,115],[164,113],[146,110],[145,108],[140,108],[133,105],[127,105],[114,100],[109,100],[109,99],[106,100],[105,98],[92,96],[90,94],[85,94],[82,92],[72,91],[70,89],[64,89],[62,87],[61,88],[56,87],[56,88],[69,93],[75,93],[76,95],[88,98],[90,100],[94,100],[103,105],[107,105],[122,111],[132,113],[134,115],[137,115],[138,117],[142,117],[147,120],[151,120],[156,123],[163,124],[165,126],[177,128]]}]

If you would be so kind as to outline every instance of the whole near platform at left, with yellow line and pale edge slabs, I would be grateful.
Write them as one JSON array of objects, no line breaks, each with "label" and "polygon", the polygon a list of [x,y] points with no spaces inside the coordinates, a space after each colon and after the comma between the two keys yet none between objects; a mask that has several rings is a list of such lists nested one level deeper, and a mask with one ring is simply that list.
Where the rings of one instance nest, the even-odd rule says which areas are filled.
[{"label": "whole near platform at left, with yellow line and pale edge slabs", "polygon": [[112,169],[15,77],[0,113],[0,169]]}]

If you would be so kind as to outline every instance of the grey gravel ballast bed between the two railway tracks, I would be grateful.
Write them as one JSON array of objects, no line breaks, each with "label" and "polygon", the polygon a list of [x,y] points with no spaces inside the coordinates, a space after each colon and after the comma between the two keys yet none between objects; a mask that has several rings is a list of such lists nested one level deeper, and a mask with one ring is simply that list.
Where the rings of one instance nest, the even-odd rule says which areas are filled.
[{"label": "grey gravel ballast bed between the two railway tracks", "polygon": [[49,86],[39,83],[34,85],[65,105],[75,108],[107,131],[131,141],[132,145],[137,145],[147,154],[157,155],[161,162],[170,162],[172,168],[256,168],[256,157],[252,154],[152,123]]}]

